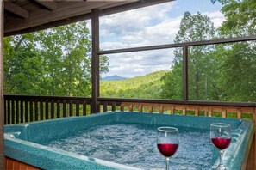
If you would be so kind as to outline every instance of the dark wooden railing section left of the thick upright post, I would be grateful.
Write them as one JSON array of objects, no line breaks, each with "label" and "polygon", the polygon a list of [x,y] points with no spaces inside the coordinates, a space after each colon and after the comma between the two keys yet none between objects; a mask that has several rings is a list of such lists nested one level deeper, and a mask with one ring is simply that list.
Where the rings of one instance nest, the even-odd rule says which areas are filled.
[{"label": "dark wooden railing section left of the thick upright post", "polygon": [[91,99],[78,97],[4,95],[4,124],[84,116],[91,113]]}]

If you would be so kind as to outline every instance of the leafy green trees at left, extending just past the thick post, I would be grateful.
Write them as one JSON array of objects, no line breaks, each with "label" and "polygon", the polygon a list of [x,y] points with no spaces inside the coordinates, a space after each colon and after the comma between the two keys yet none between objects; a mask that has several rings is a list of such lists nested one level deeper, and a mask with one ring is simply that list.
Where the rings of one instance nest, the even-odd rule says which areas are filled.
[{"label": "leafy green trees at left, extending just past the thick post", "polygon": [[[5,92],[91,95],[91,39],[85,21],[4,39]],[[100,72],[108,71],[100,56]]]}]

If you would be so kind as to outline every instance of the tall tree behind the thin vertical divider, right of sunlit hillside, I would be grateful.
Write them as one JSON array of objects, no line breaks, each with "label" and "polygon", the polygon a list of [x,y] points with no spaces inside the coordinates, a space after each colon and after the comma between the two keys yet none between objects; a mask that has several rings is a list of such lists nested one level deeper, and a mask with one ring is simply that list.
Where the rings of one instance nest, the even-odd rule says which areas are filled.
[{"label": "tall tree behind the thin vertical divider, right of sunlit hillside", "polygon": [[[215,38],[215,27],[208,16],[191,15],[185,12],[180,23],[180,28],[175,43],[201,41]],[[190,100],[206,100],[205,83],[210,82],[209,78],[213,74],[212,64],[209,63],[209,53],[212,46],[191,46],[189,47],[189,98]],[[162,77],[162,98],[182,99],[183,96],[183,54],[182,49],[177,48],[174,52],[175,58],[171,71]],[[210,86],[209,86],[210,87]],[[207,89],[209,90],[209,89]]]}]

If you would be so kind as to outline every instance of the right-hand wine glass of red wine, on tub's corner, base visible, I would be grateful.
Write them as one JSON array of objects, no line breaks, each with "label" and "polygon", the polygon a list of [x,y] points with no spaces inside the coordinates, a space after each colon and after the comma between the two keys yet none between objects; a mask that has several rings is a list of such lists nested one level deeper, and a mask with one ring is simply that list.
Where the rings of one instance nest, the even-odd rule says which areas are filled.
[{"label": "right-hand wine glass of red wine, on tub's corner, base visible", "polygon": [[227,149],[231,142],[231,125],[223,123],[210,124],[210,139],[215,145],[215,148],[219,150],[220,164],[216,169],[228,169],[223,165],[222,155],[224,153],[224,149]]}]

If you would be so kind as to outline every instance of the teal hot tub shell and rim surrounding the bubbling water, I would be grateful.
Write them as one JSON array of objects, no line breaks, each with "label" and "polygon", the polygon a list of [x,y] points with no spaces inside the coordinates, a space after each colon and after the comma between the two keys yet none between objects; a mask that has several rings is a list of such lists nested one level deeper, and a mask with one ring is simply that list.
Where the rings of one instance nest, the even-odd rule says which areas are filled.
[{"label": "teal hot tub shell and rim surrounding the bubbling water", "polygon": [[[252,121],[237,118],[209,118],[184,115],[140,112],[104,112],[85,117],[59,118],[29,124],[4,126],[5,156],[42,169],[140,169],[78,155],[62,149],[42,145],[53,139],[66,137],[76,131],[103,124],[154,124],[178,126],[209,131],[209,124],[231,124],[234,131],[232,144],[226,150],[224,161],[232,170],[245,169],[254,135]],[[217,164],[217,153],[213,164]]]}]

